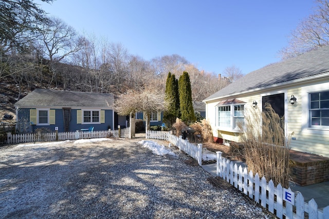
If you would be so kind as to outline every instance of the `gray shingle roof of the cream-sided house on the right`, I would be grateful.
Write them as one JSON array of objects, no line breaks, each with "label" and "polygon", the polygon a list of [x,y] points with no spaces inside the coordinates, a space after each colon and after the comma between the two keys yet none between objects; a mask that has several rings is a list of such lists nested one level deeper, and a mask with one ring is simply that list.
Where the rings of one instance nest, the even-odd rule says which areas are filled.
[{"label": "gray shingle roof of the cream-sided house on the right", "polygon": [[204,101],[248,92],[253,89],[265,89],[268,86],[293,81],[329,71],[329,46],[325,46],[284,62],[265,66],[252,71],[222,90],[210,95]]}]

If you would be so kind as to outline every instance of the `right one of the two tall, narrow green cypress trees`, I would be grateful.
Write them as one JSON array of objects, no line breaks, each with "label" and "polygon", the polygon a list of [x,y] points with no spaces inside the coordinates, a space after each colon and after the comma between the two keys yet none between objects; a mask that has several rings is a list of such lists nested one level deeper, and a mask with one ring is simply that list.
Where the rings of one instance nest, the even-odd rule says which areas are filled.
[{"label": "right one of the two tall, narrow green cypress trees", "polygon": [[189,73],[186,71],[178,80],[180,119],[185,123],[195,122],[194,109],[192,104],[192,91]]}]

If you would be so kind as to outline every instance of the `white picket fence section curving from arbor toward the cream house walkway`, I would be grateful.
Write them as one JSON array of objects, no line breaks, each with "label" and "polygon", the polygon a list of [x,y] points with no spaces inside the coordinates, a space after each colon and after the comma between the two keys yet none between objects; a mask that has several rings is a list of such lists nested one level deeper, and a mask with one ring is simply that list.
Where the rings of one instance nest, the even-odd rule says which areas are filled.
[{"label": "white picket fence section curving from arbor toward the cream house walkway", "polygon": [[186,140],[182,139],[182,136],[170,134],[170,132],[165,131],[146,131],[145,138],[147,139],[158,139],[158,140],[166,140],[175,145],[179,150],[184,151],[191,157],[193,157],[197,163],[202,165],[202,144],[193,144]]}]

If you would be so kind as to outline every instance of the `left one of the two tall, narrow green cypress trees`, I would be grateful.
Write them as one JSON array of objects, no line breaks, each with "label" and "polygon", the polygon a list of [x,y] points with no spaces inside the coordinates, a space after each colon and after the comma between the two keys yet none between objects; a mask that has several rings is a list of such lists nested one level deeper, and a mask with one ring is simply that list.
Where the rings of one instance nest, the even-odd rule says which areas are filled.
[{"label": "left one of the two tall, narrow green cypress trees", "polygon": [[166,100],[169,101],[170,107],[168,111],[163,113],[165,122],[171,126],[176,117],[179,117],[179,97],[178,97],[178,81],[175,74],[169,72],[166,82]]}]

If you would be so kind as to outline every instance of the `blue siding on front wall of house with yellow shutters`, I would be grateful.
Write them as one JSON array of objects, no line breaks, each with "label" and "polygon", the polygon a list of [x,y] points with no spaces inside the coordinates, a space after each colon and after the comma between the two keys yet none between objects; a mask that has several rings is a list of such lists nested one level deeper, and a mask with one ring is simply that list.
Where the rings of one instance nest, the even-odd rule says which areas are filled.
[{"label": "blue siding on front wall of house with yellow shutters", "polygon": [[[27,120],[30,122],[30,109],[35,108],[20,108],[18,110],[17,118],[19,120]],[[54,131],[55,127],[58,127],[59,132],[64,131],[64,118],[63,118],[63,110],[62,109],[54,109],[55,110],[55,119],[56,124],[47,125],[47,126],[39,126],[39,125],[30,125],[28,132],[34,132],[35,129],[38,128],[47,128],[50,131]],[[69,131],[75,132],[76,130],[88,128],[89,126],[94,126],[94,131],[102,131],[107,130],[108,128],[112,128],[113,126],[113,110],[105,110],[105,123],[101,124],[77,124],[77,109],[71,109],[71,120],[69,123]]]}]

